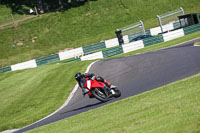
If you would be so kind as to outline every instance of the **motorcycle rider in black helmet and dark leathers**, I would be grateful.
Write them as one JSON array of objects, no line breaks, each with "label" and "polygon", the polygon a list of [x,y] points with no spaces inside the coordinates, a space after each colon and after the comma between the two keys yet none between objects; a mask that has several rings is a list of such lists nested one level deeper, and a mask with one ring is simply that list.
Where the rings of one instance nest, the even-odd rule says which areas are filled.
[{"label": "motorcycle rider in black helmet and dark leathers", "polygon": [[79,87],[82,89],[83,95],[85,95],[89,90],[84,88],[86,78],[89,78],[90,80],[97,80],[99,82],[103,82],[108,85],[108,87],[111,86],[109,82],[104,80],[102,77],[98,76],[96,77],[94,73],[85,73],[81,74],[80,72],[76,73],[75,79],[79,84]]}]

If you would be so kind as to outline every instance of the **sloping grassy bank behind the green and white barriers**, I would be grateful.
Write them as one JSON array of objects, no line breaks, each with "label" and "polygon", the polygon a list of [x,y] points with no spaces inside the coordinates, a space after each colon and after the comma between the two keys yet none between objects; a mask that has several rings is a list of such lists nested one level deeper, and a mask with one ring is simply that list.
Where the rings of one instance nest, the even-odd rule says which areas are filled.
[{"label": "sloping grassy bank behind the green and white barriers", "polygon": [[0,30],[0,67],[113,38],[115,29],[139,20],[149,29],[158,26],[157,14],[179,7],[185,13],[199,12],[198,5],[199,0],[98,0],[45,14],[17,28]]}]

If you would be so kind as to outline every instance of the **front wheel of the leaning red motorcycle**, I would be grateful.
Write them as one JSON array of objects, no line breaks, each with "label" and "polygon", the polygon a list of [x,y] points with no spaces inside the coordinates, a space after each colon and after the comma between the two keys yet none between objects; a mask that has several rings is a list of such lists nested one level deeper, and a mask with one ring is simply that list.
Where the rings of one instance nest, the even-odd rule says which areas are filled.
[{"label": "front wheel of the leaning red motorcycle", "polygon": [[106,96],[105,92],[103,92],[100,88],[95,88],[91,91],[93,96],[101,102],[107,102],[109,98]]}]

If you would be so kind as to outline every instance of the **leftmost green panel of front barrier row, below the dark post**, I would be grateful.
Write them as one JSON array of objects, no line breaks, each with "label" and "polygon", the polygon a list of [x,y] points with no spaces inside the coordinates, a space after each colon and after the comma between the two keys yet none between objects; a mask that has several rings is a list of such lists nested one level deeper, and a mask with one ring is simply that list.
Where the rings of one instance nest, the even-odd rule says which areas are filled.
[{"label": "leftmost green panel of front barrier row, below the dark post", "polygon": [[122,49],[122,46],[118,46],[115,48],[104,50],[102,52],[103,52],[103,57],[110,57],[110,56],[114,56],[114,55],[123,53],[123,49]]}]

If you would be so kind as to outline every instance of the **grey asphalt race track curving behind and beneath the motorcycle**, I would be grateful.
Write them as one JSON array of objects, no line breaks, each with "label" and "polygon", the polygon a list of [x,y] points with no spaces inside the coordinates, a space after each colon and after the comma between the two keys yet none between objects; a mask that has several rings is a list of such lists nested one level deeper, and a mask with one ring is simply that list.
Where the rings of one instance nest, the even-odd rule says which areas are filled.
[{"label": "grey asphalt race track curving behind and beneath the motorcycle", "polygon": [[122,92],[120,98],[101,103],[96,99],[89,99],[88,96],[84,97],[78,89],[62,110],[17,132],[46,125],[200,73],[200,46],[193,46],[193,43],[194,40],[155,52],[96,62],[90,72],[117,85]]}]

